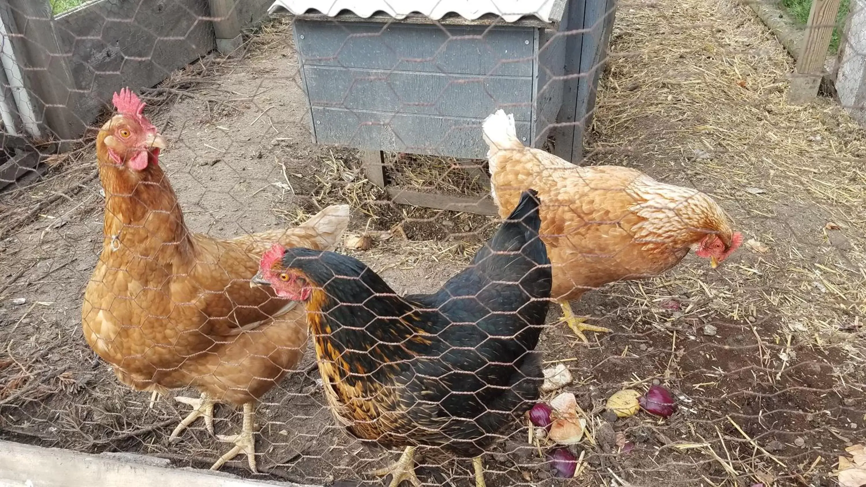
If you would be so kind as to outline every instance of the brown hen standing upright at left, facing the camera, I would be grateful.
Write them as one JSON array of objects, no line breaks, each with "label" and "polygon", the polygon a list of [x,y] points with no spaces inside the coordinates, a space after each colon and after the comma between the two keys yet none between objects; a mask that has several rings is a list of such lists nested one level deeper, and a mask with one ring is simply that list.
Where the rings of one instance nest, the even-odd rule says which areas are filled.
[{"label": "brown hen standing upright at left, facing the camera", "polygon": [[293,301],[250,288],[249,276],[271,245],[333,248],[349,207],[325,208],[300,227],[230,240],[193,234],[167,176],[159,167],[165,140],[128,90],[114,96],[118,113],[96,140],[106,195],[104,246],[87,285],[82,323],[87,343],[110,363],[120,381],[165,394],[197,388],[200,399],[171,439],[198,417],[213,433],[213,406],[243,407],[242,433],[219,468],[245,453],[255,471],[255,401],[299,361],[307,321]]}]

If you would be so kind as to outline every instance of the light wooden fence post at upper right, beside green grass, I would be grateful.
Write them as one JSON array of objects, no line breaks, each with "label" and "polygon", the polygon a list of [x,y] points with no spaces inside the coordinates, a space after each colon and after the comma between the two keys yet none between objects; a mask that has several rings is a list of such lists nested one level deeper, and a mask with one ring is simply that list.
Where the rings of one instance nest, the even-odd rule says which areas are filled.
[{"label": "light wooden fence post at upper right, beside green grass", "polygon": [[797,69],[791,75],[788,103],[800,105],[818,95],[838,11],[839,0],[813,0]]}]

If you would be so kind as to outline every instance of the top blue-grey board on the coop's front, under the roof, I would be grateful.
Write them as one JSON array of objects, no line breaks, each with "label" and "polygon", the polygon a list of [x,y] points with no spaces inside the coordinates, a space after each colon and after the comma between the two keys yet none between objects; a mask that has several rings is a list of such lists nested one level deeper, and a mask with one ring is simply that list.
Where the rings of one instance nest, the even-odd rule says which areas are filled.
[{"label": "top blue-grey board on the coop's front, under the roof", "polygon": [[[533,74],[533,28],[298,19],[295,31],[298,53],[306,65],[450,74]],[[467,35],[470,37],[461,38]]]}]

